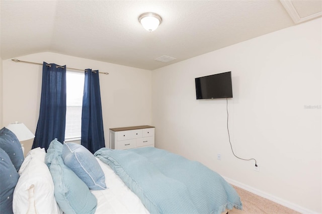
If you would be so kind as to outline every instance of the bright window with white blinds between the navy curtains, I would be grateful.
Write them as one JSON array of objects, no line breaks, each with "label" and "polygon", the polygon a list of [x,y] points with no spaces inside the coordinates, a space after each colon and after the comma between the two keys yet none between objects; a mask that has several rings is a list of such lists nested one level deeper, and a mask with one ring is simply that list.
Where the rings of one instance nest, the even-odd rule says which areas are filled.
[{"label": "bright window with white blinds between the navy curtains", "polygon": [[66,72],[65,141],[81,140],[84,73]]}]

